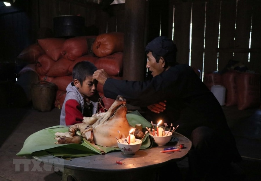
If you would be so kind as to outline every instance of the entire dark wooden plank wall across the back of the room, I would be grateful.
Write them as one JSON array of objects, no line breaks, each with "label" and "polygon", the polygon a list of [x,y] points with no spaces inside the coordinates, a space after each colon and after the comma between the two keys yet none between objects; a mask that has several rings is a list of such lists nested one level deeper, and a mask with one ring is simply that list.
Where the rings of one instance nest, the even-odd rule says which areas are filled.
[{"label": "entire dark wooden plank wall across the back of the room", "polygon": [[[56,16],[80,14],[86,19],[85,26],[97,27],[99,34],[124,32],[125,21],[128,21],[124,19],[125,4],[111,5],[107,10],[112,13],[108,14],[98,4],[83,0],[26,2],[28,9],[0,11],[0,41],[5,45],[0,49],[0,62],[17,62],[16,57],[23,48],[36,41],[40,28],[53,29],[53,18]],[[249,70],[261,73],[261,1],[168,0],[168,3],[164,1],[165,3],[160,4],[161,13],[156,11],[157,8],[151,7],[159,6],[160,0],[148,2],[150,7],[146,9],[149,13],[144,42],[146,38],[152,39],[150,35],[156,36],[158,32],[160,24],[155,17],[157,13],[163,24],[162,34],[168,37],[174,34],[178,62],[191,64],[202,73],[207,73],[222,71],[228,61],[233,59],[245,64]],[[149,27],[152,25],[153,27]]]}]

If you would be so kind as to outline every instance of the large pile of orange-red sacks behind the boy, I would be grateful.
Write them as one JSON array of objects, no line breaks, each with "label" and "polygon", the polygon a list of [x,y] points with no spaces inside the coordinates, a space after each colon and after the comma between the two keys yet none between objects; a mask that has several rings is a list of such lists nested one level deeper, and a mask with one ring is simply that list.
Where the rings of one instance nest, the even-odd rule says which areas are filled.
[{"label": "large pile of orange-red sacks behind the boy", "polygon": [[[39,80],[55,83],[58,87],[55,107],[63,105],[66,87],[73,81],[72,70],[80,61],[92,62],[98,69],[105,69],[109,76],[122,78],[123,33],[104,33],[98,36],[72,38],[44,38],[26,47],[18,56],[29,64],[19,72],[35,71]],[[113,99],[104,97],[102,85],[97,90],[108,109]]]}]

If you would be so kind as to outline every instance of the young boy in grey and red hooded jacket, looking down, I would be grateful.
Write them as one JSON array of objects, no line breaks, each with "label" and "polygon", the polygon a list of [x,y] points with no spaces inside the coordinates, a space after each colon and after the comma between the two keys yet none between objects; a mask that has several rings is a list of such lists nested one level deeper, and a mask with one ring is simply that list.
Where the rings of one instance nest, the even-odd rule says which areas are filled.
[{"label": "young boy in grey and red hooded jacket, looking down", "polygon": [[103,102],[96,91],[97,82],[93,82],[93,73],[96,70],[95,65],[88,61],[78,62],[73,67],[73,82],[66,88],[60,125],[82,123],[83,117],[104,112]]}]

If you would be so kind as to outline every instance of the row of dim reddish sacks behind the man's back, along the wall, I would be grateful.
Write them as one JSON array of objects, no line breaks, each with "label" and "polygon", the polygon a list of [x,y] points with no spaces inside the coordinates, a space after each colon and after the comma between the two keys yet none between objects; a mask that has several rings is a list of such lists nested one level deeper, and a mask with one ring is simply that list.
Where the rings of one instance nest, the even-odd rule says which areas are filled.
[{"label": "row of dim reddish sacks behind the man's back, along the wall", "polygon": [[260,106],[260,74],[238,70],[213,72],[204,75],[204,83],[210,90],[213,85],[226,88],[226,106],[237,106],[238,110]]}]

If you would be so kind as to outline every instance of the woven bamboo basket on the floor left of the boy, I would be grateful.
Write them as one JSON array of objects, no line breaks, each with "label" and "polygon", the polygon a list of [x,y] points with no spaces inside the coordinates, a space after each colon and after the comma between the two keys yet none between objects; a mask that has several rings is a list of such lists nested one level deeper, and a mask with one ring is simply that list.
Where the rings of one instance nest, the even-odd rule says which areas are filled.
[{"label": "woven bamboo basket on the floor left of the boy", "polygon": [[51,111],[55,103],[57,86],[54,83],[40,81],[31,85],[32,105],[35,110]]}]

